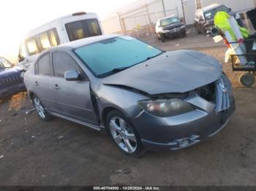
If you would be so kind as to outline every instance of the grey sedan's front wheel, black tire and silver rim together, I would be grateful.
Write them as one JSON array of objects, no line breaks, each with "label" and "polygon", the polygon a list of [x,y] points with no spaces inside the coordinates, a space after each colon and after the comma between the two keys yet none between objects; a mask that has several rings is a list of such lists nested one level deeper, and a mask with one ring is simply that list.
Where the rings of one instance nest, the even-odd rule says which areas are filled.
[{"label": "grey sedan's front wheel, black tire and silver rim together", "polygon": [[113,110],[107,115],[106,129],[113,142],[126,155],[142,157],[145,154],[135,126],[121,112]]}]

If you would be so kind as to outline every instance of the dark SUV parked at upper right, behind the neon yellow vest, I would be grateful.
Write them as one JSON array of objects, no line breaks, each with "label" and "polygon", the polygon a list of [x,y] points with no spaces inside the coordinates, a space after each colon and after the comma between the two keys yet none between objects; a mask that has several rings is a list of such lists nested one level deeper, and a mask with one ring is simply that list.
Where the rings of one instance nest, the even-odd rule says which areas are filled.
[{"label": "dark SUV parked at upper right, behind the neon yellow vest", "polygon": [[233,12],[232,9],[223,4],[211,4],[208,7],[197,9],[195,12],[194,26],[197,34],[210,34],[211,29],[214,27],[214,15],[221,11],[235,17],[238,24],[242,26],[242,20],[238,13]]}]

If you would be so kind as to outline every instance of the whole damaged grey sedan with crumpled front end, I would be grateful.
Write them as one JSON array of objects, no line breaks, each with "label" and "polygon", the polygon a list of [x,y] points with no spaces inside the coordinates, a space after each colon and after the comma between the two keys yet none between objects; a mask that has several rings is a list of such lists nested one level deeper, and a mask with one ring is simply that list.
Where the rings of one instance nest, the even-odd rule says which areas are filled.
[{"label": "whole damaged grey sedan with crumpled front end", "polygon": [[130,36],[95,36],[45,50],[25,74],[42,120],[106,128],[127,155],[176,150],[214,136],[235,102],[214,58],[165,52]]}]

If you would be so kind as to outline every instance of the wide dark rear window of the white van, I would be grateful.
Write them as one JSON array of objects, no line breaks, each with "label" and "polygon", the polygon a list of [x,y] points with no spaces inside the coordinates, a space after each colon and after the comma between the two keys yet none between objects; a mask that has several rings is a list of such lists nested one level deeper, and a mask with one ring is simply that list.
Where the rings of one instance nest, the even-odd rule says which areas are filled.
[{"label": "wide dark rear window of the white van", "polygon": [[69,41],[102,35],[97,19],[78,20],[66,25]]}]

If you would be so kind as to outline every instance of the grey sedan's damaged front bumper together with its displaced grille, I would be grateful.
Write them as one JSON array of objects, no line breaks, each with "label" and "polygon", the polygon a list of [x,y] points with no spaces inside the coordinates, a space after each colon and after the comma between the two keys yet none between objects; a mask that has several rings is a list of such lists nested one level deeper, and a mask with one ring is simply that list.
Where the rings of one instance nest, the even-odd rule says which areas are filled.
[{"label": "grey sedan's damaged front bumper together with its displaced grille", "polygon": [[[195,95],[187,102],[196,109],[173,117],[157,117],[145,111],[132,120],[147,150],[183,149],[217,134],[227,125],[236,109],[231,85],[227,77],[214,82],[216,103]],[[222,90],[222,91],[219,91]]]}]

